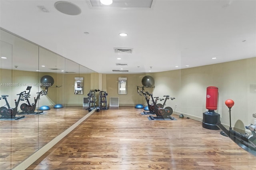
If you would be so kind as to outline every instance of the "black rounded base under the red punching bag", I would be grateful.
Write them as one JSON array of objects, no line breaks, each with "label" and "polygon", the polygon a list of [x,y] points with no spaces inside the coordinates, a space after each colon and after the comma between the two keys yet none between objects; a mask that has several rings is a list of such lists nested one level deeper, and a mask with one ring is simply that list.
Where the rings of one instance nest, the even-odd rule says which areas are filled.
[{"label": "black rounded base under the red punching bag", "polygon": [[216,113],[214,110],[209,110],[203,113],[202,126],[211,130],[219,130],[216,123],[220,121],[220,114]]}]

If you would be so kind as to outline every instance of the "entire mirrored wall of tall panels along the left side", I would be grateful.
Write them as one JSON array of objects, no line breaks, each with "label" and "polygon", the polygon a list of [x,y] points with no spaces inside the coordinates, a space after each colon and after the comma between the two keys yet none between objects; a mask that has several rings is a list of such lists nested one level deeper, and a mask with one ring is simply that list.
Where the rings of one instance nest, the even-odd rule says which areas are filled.
[{"label": "entire mirrored wall of tall panels along the left side", "polygon": [[[0,169],[12,169],[88,114],[94,71],[0,30]],[[83,77],[81,95],[74,77]]]}]

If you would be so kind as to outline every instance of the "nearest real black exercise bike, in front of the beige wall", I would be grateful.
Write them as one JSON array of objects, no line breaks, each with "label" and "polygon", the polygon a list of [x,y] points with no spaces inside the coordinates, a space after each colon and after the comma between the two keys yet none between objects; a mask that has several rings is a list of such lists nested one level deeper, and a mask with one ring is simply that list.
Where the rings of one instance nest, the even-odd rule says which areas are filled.
[{"label": "nearest real black exercise bike, in front of the beige wall", "polygon": [[164,108],[158,108],[156,106],[156,102],[154,101],[154,97],[152,94],[148,93],[148,91],[146,91],[146,94],[150,95],[151,99],[152,99],[152,102],[153,102],[153,105],[154,105],[154,110],[155,110],[155,114],[156,114],[156,117],[153,117],[153,116],[149,116],[150,119],[154,120],[154,119],[164,119],[164,118],[169,118],[169,119],[174,119],[174,117],[171,117],[172,113],[170,110],[168,109],[164,109]]}]

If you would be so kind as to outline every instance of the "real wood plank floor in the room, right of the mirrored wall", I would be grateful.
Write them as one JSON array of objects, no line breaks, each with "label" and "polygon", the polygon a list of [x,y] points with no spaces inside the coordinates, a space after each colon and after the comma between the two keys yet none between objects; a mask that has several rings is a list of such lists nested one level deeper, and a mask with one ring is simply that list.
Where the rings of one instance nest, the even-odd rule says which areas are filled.
[{"label": "real wood plank floor in the room, right of the mirrored wall", "polygon": [[93,113],[28,170],[256,170],[256,157],[191,119],[150,121],[142,109]]}]

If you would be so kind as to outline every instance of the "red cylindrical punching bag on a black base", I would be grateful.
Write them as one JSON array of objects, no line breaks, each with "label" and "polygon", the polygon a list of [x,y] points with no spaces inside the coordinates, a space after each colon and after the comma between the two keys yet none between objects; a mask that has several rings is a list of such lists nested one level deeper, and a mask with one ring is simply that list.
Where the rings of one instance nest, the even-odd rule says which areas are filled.
[{"label": "red cylindrical punching bag on a black base", "polygon": [[217,110],[218,87],[210,86],[206,89],[206,109]]}]

